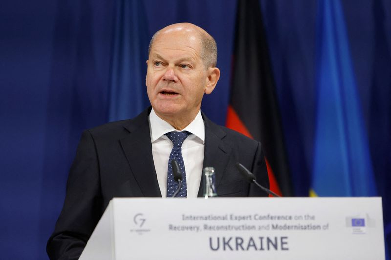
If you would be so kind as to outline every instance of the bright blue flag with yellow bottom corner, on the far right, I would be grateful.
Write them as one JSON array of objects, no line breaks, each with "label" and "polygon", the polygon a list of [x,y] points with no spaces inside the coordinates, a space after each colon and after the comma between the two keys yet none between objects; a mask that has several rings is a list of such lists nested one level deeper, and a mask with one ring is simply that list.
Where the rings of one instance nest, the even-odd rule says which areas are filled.
[{"label": "bright blue flag with yellow bottom corner, on the far right", "polygon": [[339,0],[320,0],[311,196],[377,194]]}]

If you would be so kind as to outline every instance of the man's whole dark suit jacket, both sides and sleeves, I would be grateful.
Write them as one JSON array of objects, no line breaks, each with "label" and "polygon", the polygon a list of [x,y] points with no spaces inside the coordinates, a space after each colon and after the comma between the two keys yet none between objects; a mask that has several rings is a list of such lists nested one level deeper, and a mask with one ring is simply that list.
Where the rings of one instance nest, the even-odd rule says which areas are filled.
[{"label": "man's whole dark suit jacket, both sides and sleeves", "polygon": [[[50,259],[78,259],[114,197],[161,197],[148,124],[151,107],[137,117],[83,132],[70,169],[66,198],[47,243]],[[261,143],[210,121],[205,123],[203,167],[215,168],[218,196],[266,196],[235,168],[240,162],[269,187]],[[201,183],[202,180],[201,180]],[[202,196],[200,186],[198,196]]]}]

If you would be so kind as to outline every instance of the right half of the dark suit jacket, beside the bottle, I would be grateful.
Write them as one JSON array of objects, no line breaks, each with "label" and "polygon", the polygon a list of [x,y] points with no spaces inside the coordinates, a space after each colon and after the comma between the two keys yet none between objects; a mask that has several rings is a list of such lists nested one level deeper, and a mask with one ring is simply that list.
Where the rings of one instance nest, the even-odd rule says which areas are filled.
[{"label": "right half of the dark suit jacket, beside the bottle", "polygon": [[[205,121],[204,167],[213,166],[219,196],[265,196],[262,191],[247,183],[235,167],[240,162],[252,171],[261,185],[269,187],[266,164],[261,143],[234,130]],[[200,187],[201,195],[202,187]]]}]

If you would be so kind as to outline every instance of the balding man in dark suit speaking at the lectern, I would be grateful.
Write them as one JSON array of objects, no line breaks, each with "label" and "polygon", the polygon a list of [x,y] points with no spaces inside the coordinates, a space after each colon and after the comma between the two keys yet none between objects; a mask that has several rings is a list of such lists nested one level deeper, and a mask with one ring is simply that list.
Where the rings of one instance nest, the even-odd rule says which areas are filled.
[{"label": "balding man in dark suit speaking at the lectern", "polygon": [[266,195],[234,167],[242,163],[268,187],[261,144],[214,124],[200,111],[204,93],[213,91],[220,76],[216,61],[215,40],[193,24],[173,24],[152,37],[146,77],[152,107],[134,119],[83,132],[47,244],[50,259],[78,259],[113,197],[170,197],[175,141],[167,133],[186,133],[181,148],[175,148],[183,154],[182,196],[202,196],[207,166],[215,168],[219,196]]}]

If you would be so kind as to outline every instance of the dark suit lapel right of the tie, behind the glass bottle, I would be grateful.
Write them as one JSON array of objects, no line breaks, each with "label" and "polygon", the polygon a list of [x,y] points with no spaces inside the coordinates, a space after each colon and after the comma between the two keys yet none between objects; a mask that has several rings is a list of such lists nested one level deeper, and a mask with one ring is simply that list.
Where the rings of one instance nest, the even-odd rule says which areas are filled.
[{"label": "dark suit lapel right of the tie, behind the glass bottle", "polygon": [[[217,188],[220,185],[225,168],[227,167],[231,148],[222,141],[226,133],[209,120],[203,113],[202,117],[205,122],[205,151],[202,168],[215,168],[215,186]],[[204,176],[202,174],[198,197],[203,196],[203,182]]]}]

